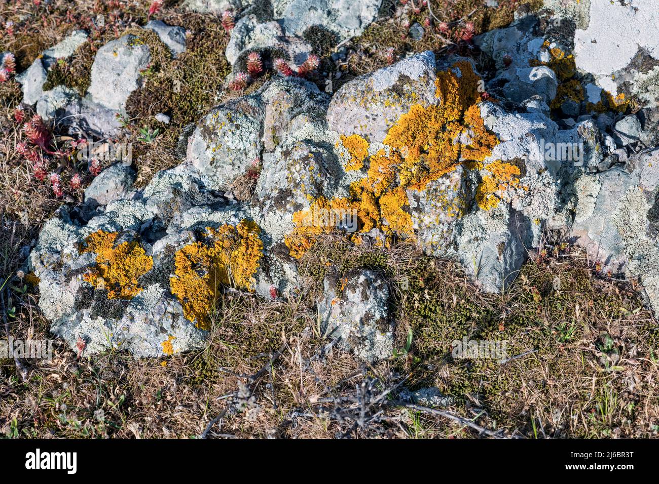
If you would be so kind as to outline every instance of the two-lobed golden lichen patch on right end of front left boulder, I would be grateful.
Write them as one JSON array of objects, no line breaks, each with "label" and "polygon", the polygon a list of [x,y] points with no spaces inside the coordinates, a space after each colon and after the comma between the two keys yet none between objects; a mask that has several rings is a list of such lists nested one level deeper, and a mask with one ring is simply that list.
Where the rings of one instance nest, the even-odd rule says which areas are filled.
[{"label": "two-lobed golden lichen patch on right end of front left boulder", "polygon": [[208,313],[222,284],[252,290],[254,274],[263,256],[258,226],[246,220],[237,227],[206,228],[206,240],[178,250],[174,275],[169,279],[187,319],[208,329]]}]

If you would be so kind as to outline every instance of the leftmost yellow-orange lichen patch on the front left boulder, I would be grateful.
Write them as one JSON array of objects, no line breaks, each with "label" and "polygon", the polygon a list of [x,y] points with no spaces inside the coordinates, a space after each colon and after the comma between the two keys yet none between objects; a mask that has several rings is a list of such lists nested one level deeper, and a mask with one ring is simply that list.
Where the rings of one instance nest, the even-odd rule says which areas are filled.
[{"label": "leftmost yellow-orange lichen patch on the front left boulder", "polygon": [[114,246],[117,232],[98,230],[85,239],[80,254],[96,253],[96,267],[83,277],[97,289],[107,290],[109,299],[131,299],[142,288],[138,278],[154,265],[137,242],[122,242]]}]

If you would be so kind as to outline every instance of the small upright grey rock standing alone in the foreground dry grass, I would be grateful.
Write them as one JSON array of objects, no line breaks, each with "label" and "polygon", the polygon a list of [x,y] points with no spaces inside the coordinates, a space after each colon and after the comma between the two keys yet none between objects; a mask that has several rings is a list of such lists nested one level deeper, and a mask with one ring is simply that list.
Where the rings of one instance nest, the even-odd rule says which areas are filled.
[{"label": "small upright grey rock standing alone in the foreground dry grass", "polygon": [[328,277],[318,313],[329,338],[352,350],[357,358],[376,362],[393,354],[393,322],[387,302],[389,286],[374,271],[364,269],[342,281]]}]

